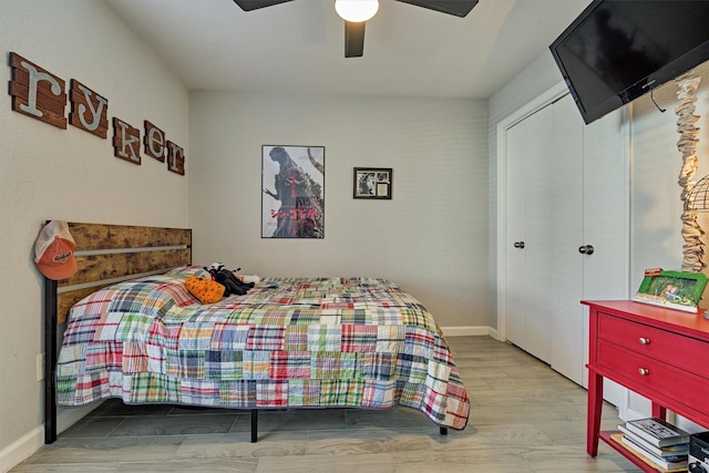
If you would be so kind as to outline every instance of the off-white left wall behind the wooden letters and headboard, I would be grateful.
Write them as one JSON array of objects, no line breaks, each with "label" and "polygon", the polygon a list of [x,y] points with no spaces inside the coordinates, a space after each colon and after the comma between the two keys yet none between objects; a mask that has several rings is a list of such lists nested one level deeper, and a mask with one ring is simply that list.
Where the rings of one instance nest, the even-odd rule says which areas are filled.
[{"label": "off-white left wall behind the wooden letters and headboard", "polygon": [[[2,0],[0,44],[66,81],[76,79],[109,100],[109,120],[143,120],[183,146],[187,176],[143,157],[113,157],[101,140],[72,125],[61,130],[11,109],[0,94],[0,471],[43,442],[43,278],[33,244],[45,219],[185,227],[189,147],[188,95],[133,33],[92,0]],[[4,66],[6,84],[10,68]],[[66,106],[69,114],[70,105]]]}]

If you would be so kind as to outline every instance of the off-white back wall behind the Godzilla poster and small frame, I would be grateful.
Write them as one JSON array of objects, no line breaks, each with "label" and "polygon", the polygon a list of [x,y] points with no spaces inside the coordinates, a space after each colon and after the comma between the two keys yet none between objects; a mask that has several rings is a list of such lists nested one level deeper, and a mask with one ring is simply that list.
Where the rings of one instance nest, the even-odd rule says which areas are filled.
[{"label": "off-white back wall behind the Godzilla poster and small frame", "polygon": [[[378,276],[444,327],[487,327],[484,102],[191,92],[194,260],[260,276]],[[325,239],[260,238],[261,145],[325,146]],[[352,168],[393,168],[391,200]]]}]

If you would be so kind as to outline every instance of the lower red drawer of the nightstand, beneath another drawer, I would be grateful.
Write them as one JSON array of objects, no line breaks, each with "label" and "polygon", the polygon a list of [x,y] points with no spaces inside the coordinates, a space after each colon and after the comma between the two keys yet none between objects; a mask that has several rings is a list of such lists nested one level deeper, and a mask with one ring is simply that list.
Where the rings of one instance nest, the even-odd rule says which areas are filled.
[{"label": "lower red drawer of the nightstand, beneath another drawer", "polygon": [[645,391],[670,397],[692,409],[705,407],[709,399],[706,379],[607,341],[598,341],[598,366],[638,383]]}]

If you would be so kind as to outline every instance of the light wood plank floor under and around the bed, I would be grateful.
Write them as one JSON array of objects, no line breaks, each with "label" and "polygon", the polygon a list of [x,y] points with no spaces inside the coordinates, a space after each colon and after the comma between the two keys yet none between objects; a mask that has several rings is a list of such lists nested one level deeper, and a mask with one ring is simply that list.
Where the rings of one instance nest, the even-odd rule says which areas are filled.
[{"label": "light wood plank floor under and around the bed", "polygon": [[[449,343],[472,398],[464,431],[407,409],[261,412],[109,401],[11,470],[28,472],[638,472],[602,443],[586,454],[586,391],[487,337]],[[618,423],[606,405],[603,429]]]}]

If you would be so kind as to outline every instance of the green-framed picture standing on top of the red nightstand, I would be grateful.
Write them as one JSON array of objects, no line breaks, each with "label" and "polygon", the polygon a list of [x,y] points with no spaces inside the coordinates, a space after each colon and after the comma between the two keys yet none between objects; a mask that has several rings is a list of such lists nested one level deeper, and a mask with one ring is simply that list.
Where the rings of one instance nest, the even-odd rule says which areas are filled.
[{"label": "green-framed picture standing on top of the red nightstand", "polygon": [[702,273],[648,269],[645,271],[645,278],[635,295],[635,300],[697,312],[706,287],[707,276]]}]

